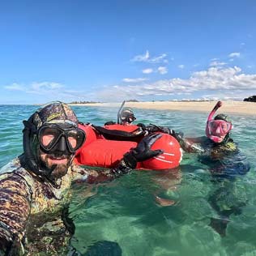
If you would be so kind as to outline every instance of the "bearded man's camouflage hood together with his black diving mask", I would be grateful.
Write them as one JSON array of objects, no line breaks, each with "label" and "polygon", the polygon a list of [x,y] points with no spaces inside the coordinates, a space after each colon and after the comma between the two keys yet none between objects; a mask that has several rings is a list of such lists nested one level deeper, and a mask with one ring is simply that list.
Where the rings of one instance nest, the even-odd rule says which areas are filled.
[{"label": "bearded man's camouflage hood together with his black diving mask", "polygon": [[38,109],[23,124],[23,165],[41,177],[49,178],[57,165],[47,167],[41,160],[40,151],[57,158],[68,157],[68,168],[75,151],[85,140],[83,130],[78,128],[75,113],[60,101]]}]

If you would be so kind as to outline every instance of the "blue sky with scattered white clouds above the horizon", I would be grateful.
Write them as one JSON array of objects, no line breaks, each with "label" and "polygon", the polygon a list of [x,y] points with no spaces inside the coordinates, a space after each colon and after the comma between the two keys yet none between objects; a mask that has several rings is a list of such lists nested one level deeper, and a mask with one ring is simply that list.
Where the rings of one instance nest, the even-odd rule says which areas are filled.
[{"label": "blue sky with scattered white clouds above the horizon", "polygon": [[241,100],[254,0],[0,1],[0,104]]}]

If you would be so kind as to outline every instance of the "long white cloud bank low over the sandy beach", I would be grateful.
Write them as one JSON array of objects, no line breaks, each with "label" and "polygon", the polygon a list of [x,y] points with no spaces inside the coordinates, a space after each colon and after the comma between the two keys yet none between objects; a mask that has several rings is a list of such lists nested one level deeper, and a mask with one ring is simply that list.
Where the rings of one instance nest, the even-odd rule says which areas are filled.
[{"label": "long white cloud bank low over the sandy beach", "polygon": [[[189,79],[163,79],[154,83],[143,83],[126,86],[106,87],[100,96],[111,95],[125,97],[188,95],[194,92],[208,92],[209,95],[241,96],[241,92],[256,89],[256,74],[246,75],[241,68],[210,67],[207,70],[194,72]],[[236,94],[237,93],[237,94]]]}]

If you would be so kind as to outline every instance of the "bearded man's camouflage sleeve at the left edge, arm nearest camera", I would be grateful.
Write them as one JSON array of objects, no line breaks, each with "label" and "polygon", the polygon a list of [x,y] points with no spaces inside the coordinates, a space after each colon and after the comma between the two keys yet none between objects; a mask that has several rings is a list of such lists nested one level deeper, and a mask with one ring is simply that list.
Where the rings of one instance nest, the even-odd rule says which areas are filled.
[{"label": "bearded man's camouflage sleeve at the left edge, arm nearest camera", "polygon": [[0,175],[0,254],[22,255],[23,238],[30,213],[27,182],[15,173]]}]

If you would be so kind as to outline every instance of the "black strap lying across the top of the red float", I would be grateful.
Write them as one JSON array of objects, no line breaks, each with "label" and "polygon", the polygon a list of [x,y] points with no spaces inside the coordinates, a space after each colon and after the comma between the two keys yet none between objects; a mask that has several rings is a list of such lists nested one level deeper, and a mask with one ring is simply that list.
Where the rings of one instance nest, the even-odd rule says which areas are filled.
[{"label": "black strap lying across the top of the red float", "polygon": [[141,130],[140,127],[134,130],[133,132],[127,132],[124,130],[109,130],[101,126],[93,126],[96,131],[102,134],[105,139],[110,140],[125,140],[125,141],[132,141],[133,139],[138,139],[144,136],[145,132]]}]

